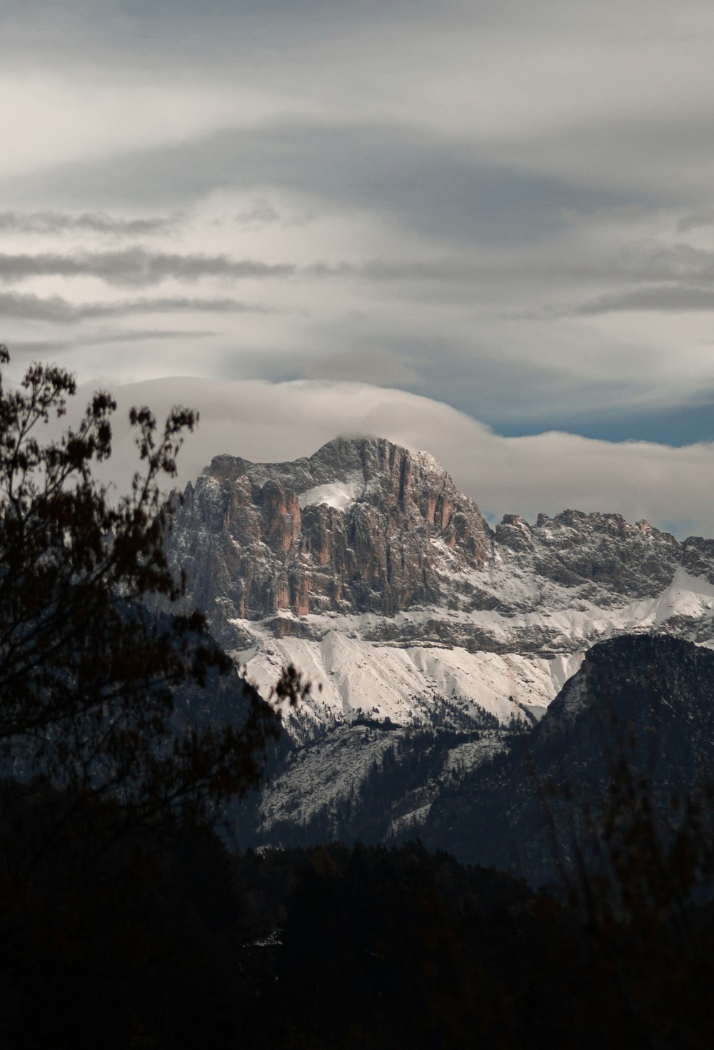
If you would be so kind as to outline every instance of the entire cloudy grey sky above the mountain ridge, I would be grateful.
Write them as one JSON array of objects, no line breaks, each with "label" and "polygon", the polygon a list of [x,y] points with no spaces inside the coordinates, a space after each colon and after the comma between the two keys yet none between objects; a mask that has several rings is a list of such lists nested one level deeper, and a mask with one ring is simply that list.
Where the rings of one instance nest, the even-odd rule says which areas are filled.
[{"label": "entire cloudy grey sky above the mountain ridge", "polygon": [[29,0],[0,37],[13,376],[202,378],[191,463],[379,425],[491,517],[714,534],[710,0]]}]

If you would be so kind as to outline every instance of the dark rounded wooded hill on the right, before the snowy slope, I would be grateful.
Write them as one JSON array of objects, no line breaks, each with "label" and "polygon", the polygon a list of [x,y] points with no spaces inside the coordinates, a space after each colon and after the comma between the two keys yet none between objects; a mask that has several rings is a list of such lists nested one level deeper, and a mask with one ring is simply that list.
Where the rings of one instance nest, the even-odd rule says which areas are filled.
[{"label": "dark rounded wooded hill on the right, before the snowy slope", "polygon": [[[714,653],[665,636],[594,646],[543,720],[435,800],[422,837],[532,884],[607,861],[626,805],[711,843]],[[694,812],[696,811],[696,813]],[[694,823],[696,822],[696,824]]]}]

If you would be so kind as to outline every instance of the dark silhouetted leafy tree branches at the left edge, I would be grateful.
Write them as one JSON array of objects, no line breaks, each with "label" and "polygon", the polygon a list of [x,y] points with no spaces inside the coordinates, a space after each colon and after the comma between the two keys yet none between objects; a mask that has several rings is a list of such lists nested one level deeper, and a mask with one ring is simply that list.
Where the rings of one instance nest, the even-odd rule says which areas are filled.
[{"label": "dark silhouetted leafy tree branches at the left edge", "polygon": [[[0,345],[0,364],[8,360]],[[17,388],[0,377],[4,802],[42,783],[72,814],[101,810],[117,825],[169,813],[202,820],[258,783],[277,719],[247,685],[235,718],[219,727],[191,722],[175,704],[178,687],[208,680],[225,690],[232,678],[240,693],[205,617],[171,611],[183,581],[164,553],[162,483],[175,476],[197,417],[174,408],[161,428],[148,408],[133,408],[139,469],[113,498],[93,472],[111,454],[110,395],[96,394],[77,425],[46,437],[44,424],[65,416],[75,394],[74,377],[56,366],[33,364]],[[150,613],[148,600],[169,611]]]}]

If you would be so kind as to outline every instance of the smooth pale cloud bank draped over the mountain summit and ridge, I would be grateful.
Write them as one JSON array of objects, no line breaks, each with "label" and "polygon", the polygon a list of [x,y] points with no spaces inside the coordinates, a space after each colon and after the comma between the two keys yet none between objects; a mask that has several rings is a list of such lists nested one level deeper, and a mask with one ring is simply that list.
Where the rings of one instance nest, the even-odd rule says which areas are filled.
[{"label": "smooth pale cloud bank draped over the mountain summit and ridge", "polygon": [[[644,518],[679,536],[714,536],[705,483],[714,469],[711,443],[672,448],[556,432],[504,438],[439,401],[363,383],[170,378],[113,393],[119,412],[107,471],[119,491],[135,463],[124,423],[129,406],[148,404],[162,418],[186,404],[198,410],[201,421],[180,457],[181,487],[223,453],[285,461],[309,456],[338,435],[373,434],[432,453],[492,518],[514,512],[534,520],[540,511],[576,508]],[[89,394],[85,387],[80,397]]]}]

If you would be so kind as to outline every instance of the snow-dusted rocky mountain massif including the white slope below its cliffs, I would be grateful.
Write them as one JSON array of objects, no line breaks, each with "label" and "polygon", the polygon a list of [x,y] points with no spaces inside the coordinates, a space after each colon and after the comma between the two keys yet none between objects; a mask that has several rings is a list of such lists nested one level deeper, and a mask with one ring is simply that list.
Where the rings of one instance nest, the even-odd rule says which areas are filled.
[{"label": "snow-dusted rocky mountain massif including the white slope below its cliffs", "polygon": [[312,679],[298,740],[360,714],[534,722],[600,639],[714,647],[713,540],[578,510],[494,530],[432,456],[382,439],[216,457],[174,510],[169,559],[215,636],[266,693],[286,663]]}]

